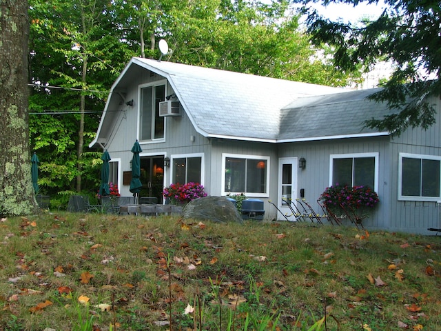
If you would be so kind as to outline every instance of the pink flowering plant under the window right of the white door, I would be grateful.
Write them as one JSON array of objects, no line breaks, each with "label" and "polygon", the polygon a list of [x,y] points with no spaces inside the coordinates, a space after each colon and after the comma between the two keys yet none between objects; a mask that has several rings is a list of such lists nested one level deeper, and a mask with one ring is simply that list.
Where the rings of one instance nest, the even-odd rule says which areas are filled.
[{"label": "pink flowering plant under the window right of the white door", "polygon": [[380,201],[378,194],[369,186],[336,185],[326,188],[320,195],[322,203],[328,208],[373,208]]}]

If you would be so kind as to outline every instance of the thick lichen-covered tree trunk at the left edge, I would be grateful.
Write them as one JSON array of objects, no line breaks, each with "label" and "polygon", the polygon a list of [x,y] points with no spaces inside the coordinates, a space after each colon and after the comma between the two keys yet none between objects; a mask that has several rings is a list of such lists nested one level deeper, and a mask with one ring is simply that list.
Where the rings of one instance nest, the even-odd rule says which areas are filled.
[{"label": "thick lichen-covered tree trunk at the left edge", "polygon": [[37,210],[28,119],[28,1],[0,0],[0,214]]}]

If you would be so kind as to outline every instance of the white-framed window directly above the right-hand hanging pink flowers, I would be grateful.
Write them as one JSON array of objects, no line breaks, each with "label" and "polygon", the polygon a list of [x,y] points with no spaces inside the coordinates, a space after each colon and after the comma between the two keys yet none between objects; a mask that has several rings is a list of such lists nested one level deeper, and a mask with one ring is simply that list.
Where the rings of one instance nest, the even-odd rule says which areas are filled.
[{"label": "white-framed window directly above the right-hand hanging pink flowers", "polygon": [[331,155],[329,185],[369,186],[378,192],[378,153]]}]

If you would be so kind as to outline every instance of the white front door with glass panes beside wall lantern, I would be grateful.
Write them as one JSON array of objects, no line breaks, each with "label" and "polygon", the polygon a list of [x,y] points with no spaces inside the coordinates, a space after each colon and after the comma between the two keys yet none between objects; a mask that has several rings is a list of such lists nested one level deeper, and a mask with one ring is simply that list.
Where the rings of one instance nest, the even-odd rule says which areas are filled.
[{"label": "white front door with glass panes beside wall lantern", "polygon": [[[278,194],[277,194],[277,219],[280,221],[296,221],[296,217],[289,208],[291,201],[297,198],[297,164],[296,157],[282,157],[278,159]],[[285,215],[285,217],[282,215]]]}]

